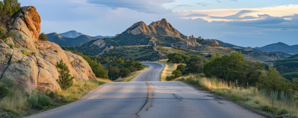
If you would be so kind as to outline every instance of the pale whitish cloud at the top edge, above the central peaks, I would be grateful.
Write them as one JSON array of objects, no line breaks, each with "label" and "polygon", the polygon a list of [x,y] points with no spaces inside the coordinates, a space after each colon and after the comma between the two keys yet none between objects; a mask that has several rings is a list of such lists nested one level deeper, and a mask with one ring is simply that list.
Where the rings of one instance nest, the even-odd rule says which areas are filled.
[{"label": "pale whitish cloud at the top edge, above the central peaks", "polygon": [[162,4],[174,2],[174,0],[87,0],[87,3],[96,4],[100,7],[110,7],[112,9],[128,8],[138,12],[163,14],[171,10]]}]

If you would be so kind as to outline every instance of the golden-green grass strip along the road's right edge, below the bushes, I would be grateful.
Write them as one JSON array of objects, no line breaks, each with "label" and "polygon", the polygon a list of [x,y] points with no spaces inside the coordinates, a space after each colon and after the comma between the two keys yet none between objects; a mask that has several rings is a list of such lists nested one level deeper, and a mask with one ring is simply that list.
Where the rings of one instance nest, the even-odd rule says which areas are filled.
[{"label": "golden-green grass strip along the road's right edge, below the bushes", "polygon": [[[217,95],[224,96],[232,101],[262,112],[263,114],[277,118],[298,118],[297,94],[288,96],[287,99],[272,99],[270,91],[258,90],[255,87],[241,88],[217,78],[205,78],[204,75],[190,75],[180,77],[176,81],[183,81],[212,91]],[[273,93],[274,94],[274,93]]]}]

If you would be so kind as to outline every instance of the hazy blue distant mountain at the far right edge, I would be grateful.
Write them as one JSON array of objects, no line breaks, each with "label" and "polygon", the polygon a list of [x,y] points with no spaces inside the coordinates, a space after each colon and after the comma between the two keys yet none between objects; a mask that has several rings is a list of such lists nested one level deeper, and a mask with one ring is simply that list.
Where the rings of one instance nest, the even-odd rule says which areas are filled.
[{"label": "hazy blue distant mountain at the far right edge", "polygon": [[255,47],[255,49],[265,51],[265,52],[284,52],[291,55],[298,54],[298,45],[287,45],[282,42],[269,44],[263,47]]}]

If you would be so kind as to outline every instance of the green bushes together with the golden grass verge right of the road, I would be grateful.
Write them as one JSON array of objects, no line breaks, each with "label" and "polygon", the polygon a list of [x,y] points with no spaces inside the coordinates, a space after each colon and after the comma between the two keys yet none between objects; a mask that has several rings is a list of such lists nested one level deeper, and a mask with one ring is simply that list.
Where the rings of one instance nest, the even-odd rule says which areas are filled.
[{"label": "green bushes together with the golden grass verge right of the road", "polygon": [[[177,55],[177,56],[175,56]],[[181,54],[170,54],[169,61],[180,61],[186,57]],[[221,56],[212,55],[210,60],[198,56],[185,58],[185,64],[180,64],[172,71],[167,80],[175,80],[181,76],[198,74],[196,77],[178,79],[190,84],[211,90],[231,100],[241,101],[245,105],[262,111],[297,117],[298,80],[288,81],[280,76],[276,68],[265,68],[260,62],[252,63],[244,59],[241,53],[231,53]],[[176,61],[178,60],[178,61]],[[207,77],[207,78],[205,78]],[[182,77],[184,78],[184,77]],[[245,94],[247,90],[249,93]]]}]

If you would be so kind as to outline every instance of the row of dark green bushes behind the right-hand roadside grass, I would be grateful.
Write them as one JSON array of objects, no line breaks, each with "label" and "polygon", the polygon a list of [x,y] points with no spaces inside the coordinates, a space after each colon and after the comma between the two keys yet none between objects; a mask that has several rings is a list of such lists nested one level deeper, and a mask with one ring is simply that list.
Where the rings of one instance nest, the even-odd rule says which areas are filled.
[{"label": "row of dark green bushes behind the right-hand roadside grass", "polygon": [[266,69],[260,62],[247,62],[241,52],[233,52],[229,56],[218,53],[212,55],[210,60],[196,55],[188,57],[180,53],[172,53],[168,57],[169,62],[184,63],[172,71],[173,75],[166,78],[168,81],[183,75],[202,73],[206,77],[223,79],[240,87],[255,86],[258,89],[288,93],[298,90],[297,78],[290,81],[283,78],[273,66]]}]

